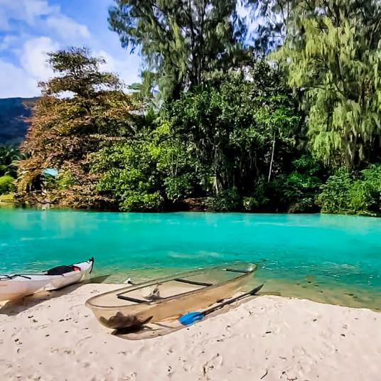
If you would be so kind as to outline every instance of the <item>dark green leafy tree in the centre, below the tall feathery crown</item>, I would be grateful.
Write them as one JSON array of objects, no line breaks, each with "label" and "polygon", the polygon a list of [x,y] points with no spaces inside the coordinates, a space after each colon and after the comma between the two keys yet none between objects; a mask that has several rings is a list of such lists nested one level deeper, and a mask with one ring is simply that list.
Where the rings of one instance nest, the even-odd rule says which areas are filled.
[{"label": "dark green leafy tree in the centre, below the tall feathery crown", "polygon": [[249,195],[259,178],[277,173],[300,120],[279,73],[263,61],[184,93],[168,114],[193,152],[205,191],[216,195],[233,188]]}]

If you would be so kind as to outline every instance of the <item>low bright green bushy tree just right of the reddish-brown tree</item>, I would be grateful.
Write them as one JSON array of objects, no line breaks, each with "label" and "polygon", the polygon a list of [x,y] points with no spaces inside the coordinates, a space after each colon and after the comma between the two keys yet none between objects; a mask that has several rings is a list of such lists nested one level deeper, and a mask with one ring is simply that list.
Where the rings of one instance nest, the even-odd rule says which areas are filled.
[{"label": "low bright green bushy tree just right of the reddish-brown tree", "polygon": [[100,175],[97,190],[122,210],[171,208],[197,188],[186,146],[165,120],[132,139],[104,146],[91,156],[91,167]]}]

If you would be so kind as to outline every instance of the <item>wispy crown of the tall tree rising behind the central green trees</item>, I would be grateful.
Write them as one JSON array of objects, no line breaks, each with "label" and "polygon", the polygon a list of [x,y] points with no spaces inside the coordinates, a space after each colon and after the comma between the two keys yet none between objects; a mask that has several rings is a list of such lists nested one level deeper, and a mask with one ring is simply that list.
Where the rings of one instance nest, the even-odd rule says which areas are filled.
[{"label": "wispy crown of the tall tree rising behind the central green trees", "polygon": [[247,24],[237,6],[252,0],[115,0],[109,25],[124,48],[139,48],[164,97],[199,85],[212,70],[245,58]]}]

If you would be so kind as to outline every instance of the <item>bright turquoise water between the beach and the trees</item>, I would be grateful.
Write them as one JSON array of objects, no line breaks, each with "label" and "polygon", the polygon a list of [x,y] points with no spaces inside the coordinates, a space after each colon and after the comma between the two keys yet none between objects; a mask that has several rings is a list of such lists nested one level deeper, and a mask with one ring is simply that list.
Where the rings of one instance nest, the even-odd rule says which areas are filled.
[{"label": "bright turquoise water between the beach and the trees", "polygon": [[0,209],[0,274],[91,256],[97,274],[249,261],[260,264],[262,279],[313,279],[378,293],[381,219]]}]

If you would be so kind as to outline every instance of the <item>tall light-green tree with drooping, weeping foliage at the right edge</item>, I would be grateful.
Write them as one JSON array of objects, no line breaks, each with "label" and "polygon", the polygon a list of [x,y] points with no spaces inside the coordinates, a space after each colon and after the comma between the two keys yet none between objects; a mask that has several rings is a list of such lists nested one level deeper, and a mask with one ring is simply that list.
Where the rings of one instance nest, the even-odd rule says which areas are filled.
[{"label": "tall light-green tree with drooping, weeping foliage at the right edge", "polygon": [[275,53],[304,91],[311,149],[333,166],[375,160],[381,139],[380,1],[302,0]]}]

